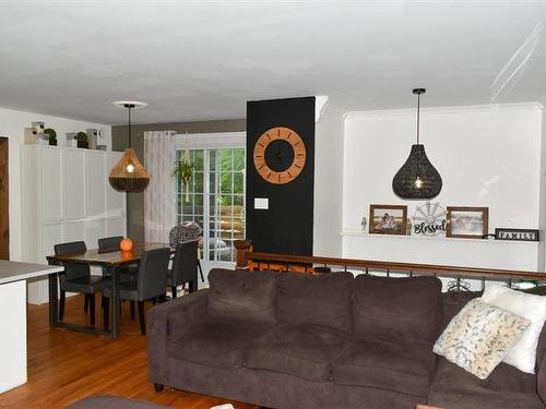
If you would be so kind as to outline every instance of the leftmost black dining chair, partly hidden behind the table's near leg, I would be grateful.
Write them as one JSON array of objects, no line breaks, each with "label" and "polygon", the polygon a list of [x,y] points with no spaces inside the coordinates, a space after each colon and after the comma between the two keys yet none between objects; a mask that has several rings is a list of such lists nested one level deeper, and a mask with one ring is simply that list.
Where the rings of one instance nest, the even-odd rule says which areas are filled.
[{"label": "leftmost black dining chair, partly hidden behind the table's near leg", "polygon": [[[83,254],[87,246],[83,241],[72,241],[54,245],[55,255]],[[60,276],[59,320],[64,317],[67,291],[85,294],[84,311],[90,311],[90,324],[95,325],[95,294],[104,285],[103,277],[91,275],[86,264],[63,263],[64,274]]]}]

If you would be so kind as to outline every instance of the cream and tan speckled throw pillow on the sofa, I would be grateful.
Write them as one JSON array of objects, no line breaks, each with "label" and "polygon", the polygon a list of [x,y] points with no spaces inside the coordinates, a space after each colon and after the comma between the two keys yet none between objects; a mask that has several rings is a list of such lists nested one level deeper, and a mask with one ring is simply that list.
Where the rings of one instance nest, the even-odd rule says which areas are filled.
[{"label": "cream and tan speckled throw pillow on the sofa", "polygon": [[485,380],[530,324],[526,318],[474,299],[451,320],[434,351]]}]

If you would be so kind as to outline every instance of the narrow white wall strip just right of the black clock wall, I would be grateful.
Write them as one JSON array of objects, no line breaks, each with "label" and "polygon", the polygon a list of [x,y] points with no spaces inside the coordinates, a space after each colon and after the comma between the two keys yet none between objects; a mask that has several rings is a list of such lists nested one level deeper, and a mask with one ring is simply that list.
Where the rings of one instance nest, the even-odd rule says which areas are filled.
[{"label": "narrow white wall strip just right of the black clock wall", "polygon": [[343,112],[330,104],[314,131],[313,254],[342,254]]}]

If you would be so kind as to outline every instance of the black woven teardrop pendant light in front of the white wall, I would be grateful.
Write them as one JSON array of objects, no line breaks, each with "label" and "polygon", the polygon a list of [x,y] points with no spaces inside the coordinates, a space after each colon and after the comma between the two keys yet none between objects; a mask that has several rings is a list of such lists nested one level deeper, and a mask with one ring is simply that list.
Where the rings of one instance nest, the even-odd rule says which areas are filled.
[{"label": "black woven teardrop pendant light in front of the white wall", "polygon": [[392,180],[392,190],[402,199],[430,200],[442,190],[442,178],[428,160],[425,146],[419,144],[420,94],[425,92],[425,88],[413,91],[417,95],[417,143],[412,145],[407,160]]}]

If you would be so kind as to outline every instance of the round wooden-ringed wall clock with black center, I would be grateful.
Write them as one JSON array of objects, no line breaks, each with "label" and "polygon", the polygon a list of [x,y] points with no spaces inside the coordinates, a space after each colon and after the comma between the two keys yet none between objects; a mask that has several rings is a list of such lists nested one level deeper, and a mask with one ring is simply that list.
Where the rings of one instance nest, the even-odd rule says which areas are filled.
[{"label": "round wooden-ringed wall clock with black center", "polygon": [[284,184],[296,179],[306,164],[301,136],[285,127],[275,127],[260,135],[254,145],[254,167],[268,182]]}]

